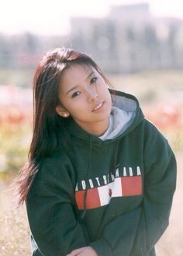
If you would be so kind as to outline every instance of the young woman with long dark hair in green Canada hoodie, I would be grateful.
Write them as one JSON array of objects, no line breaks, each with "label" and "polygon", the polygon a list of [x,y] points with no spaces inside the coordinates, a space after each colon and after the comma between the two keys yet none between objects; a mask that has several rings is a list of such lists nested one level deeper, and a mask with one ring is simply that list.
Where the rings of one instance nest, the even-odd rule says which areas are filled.
[{"label": "young woman with long dark hair in green Canada hoodie", "polygon": [[36,69],[19,178],[34,256],[152,256],[167,228],[174,153],[136,98],[108,86],[88,55],[67,48]]}]

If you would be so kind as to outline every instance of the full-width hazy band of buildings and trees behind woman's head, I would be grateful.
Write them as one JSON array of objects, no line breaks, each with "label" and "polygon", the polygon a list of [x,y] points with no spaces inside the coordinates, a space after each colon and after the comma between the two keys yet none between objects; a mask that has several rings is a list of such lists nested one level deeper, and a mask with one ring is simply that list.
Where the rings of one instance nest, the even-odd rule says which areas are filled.
[{"label": "full-width hazy band of buildings and trees behind woman's head", "polygon": [[85,51],[105,72],[183,68],[183,19],[157,18],[150,5],[112,5],[105,18],[71,18],[67,36],[0,34],[0,68],[35,68],[54,47]]}]

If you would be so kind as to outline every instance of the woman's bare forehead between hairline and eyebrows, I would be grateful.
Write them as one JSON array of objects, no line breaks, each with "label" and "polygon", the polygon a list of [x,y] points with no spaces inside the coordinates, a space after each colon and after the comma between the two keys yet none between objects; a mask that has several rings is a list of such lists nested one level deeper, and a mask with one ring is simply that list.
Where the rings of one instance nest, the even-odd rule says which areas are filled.
[{"label": "woman's bare forehead between hairline and eyebrows", "polygon": [[60,86],[76,86],[85,81],[91,72],[97,72],[91,65],[73,64],[62,72]]}]

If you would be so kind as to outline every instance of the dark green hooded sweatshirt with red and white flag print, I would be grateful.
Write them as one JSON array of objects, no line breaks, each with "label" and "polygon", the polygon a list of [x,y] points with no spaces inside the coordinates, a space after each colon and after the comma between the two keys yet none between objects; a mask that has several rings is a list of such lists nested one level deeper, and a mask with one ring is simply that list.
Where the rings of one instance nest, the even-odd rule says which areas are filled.
[{"label": "dark green hooded sweatshirt with red and white flag print", "polygon": [[110,92],[122,114],[113,113],[112,132],[103,140],[70,118],[69,150],[40,162],[26,200],[34,256],[85,246],[98,256],[155,255],[171,211],[174,153],[134,96]]}]

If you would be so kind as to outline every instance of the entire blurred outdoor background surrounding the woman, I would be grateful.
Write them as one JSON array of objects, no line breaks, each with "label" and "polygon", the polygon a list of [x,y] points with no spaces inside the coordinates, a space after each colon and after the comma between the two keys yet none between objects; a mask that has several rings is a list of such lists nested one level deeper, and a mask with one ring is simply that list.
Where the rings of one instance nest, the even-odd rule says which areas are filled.
[{"label": "entire blurred outdoor background surrounding the woman", "polygon": [[0,3],[0,251],[27,256],[25,206],[10,184],[26,162],[33,73],[54,47],[85,51],[114,88],[133,93],[178,161],[170,226],[157,256],[183,255],[183,0],[10,1]]}]

